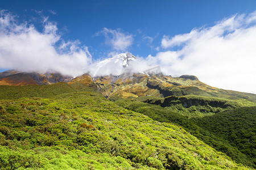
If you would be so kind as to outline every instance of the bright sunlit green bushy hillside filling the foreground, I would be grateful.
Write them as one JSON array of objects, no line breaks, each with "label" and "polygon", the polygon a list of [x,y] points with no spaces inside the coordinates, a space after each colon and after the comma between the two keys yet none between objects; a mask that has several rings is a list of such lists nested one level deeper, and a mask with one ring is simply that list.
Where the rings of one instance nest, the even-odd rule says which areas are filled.
[{"label": "bright sunlit green bushy hillside filling the foreground", "polygon": [[50,98],[31,90],[33,98],[0,100],[0,169],[249,169],[181,126],[123,108],[126,101],[119,107],[92,88],[55,96],[50,87],[40,91]]}]

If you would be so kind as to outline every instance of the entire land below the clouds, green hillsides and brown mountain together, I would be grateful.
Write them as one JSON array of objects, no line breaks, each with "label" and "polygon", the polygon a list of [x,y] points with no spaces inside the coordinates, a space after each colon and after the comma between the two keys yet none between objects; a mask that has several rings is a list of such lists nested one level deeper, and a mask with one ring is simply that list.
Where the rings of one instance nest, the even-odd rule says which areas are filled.
[{"label": "entire land below the clouds, green hillsides and brown mountain together", "polygon": [[[127,58],[101,66],[129,69]],[[10,70],[1,83],[0,168],[256,168],[255,94],[159,67],[75,78]]]}]

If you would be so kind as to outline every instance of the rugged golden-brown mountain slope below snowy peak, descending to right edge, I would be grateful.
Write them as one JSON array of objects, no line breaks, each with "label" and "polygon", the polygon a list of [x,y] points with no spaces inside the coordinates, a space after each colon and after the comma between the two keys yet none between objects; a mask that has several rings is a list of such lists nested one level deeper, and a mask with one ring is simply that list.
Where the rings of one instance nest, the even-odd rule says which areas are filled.
[{"label": "rugged golden-brown mountain slope below snowy peak, descending to right edge", "polygon": [[163,74],[122,74],[119,76],[104,76],[94,78],[98,89],[106,97],[139,97],[151,95],[155,97],[167,96],[212,96],[226,99],[256,100],[255,94],[222,90],[200,82],[196,76],[183,75],[173,78]]}]

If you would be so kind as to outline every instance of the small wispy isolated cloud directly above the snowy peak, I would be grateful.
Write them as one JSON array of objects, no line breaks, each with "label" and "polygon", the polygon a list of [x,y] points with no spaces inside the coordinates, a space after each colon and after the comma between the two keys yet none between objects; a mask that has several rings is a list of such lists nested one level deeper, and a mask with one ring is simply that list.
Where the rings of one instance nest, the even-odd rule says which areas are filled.
[{"label": "small wispy isolated cloud directly above the snowy peak", "polygon": [[112,46],[112,49],[118,52],[124,52],[133,44],[133,35],[129,33],[123,33],[121,29],[108,29],[103,28],[101,32],[106,38],[106,44]]}]

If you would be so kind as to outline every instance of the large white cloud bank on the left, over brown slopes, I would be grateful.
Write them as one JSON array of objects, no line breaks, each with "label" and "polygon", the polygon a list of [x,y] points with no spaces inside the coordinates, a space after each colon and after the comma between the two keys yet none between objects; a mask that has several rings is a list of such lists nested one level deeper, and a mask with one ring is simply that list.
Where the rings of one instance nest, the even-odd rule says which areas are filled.
[{"label": "large white cloud bank on the left, over brown slopes", "polygon": [[[61,42],[54,23],[44,20],[43,32],[33,25],[18,24],[15,16],[1,11],[0,68],[20,71],[59,72],[81,75],[92,56],[78,41]],[[60,44],[60,45],[57,45]]]}]

